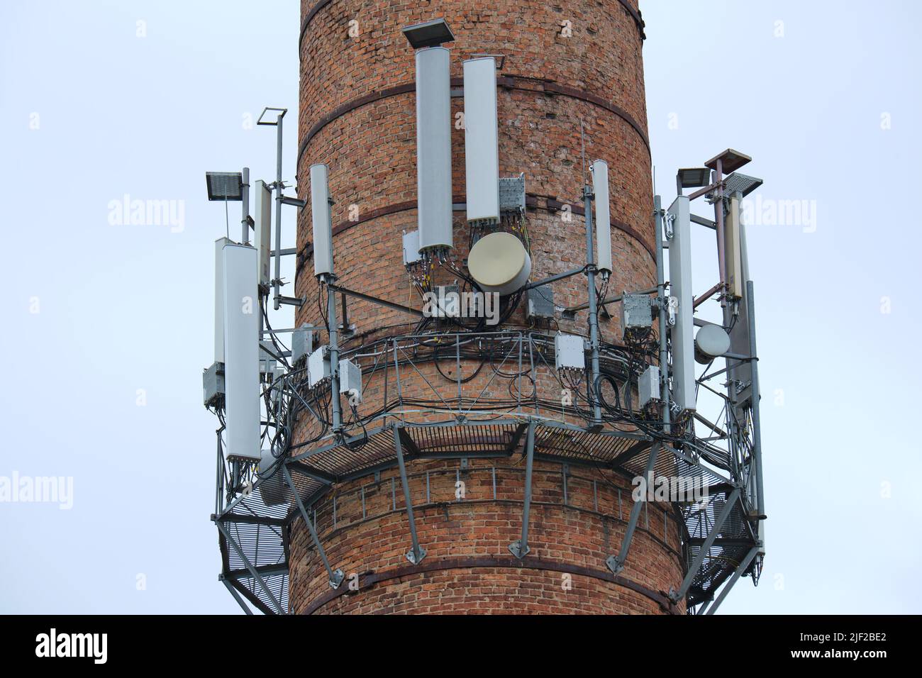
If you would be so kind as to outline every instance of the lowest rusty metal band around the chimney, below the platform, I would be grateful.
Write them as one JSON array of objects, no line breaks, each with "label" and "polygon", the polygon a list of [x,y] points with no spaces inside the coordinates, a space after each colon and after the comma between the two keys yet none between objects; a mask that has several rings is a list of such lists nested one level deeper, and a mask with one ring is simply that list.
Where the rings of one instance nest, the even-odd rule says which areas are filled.
[{"label": "lowest rusty metal band around the chimney, below the platform", "polygon": [[[653,589],[649,589],[642,584],[638,584],[637,582],[632,581],[627,577],[621,577],[620,575],[615,576],[610,572],[594,570],[588,567],[567,565],[565,563],[555,563],[547,560],[539,560],[538,558],[529,558],[527,556],[521,561],[515,560],[514,558],[496,558],[491,556],[482,556],[479,558],[446,558],[444,560],[435,562],[424,562],[422,565],[408,565],[406,567],[396,567],[395,569],[387,570],[384,572],[366,573],[361,577],[360,585],[361,590],[365,591],[376,584],[381,584],[386,581],[391,581],[401,577],[413,577],[431,572],[443,572],[446,570],[480,567],[497,567],[518,571],[537,570],[543,572],[555,572],[558,574],[570,574],[578,575],[581,577],[601,579],[602,581],[607,581],[611,584],[623,587],[624,589],[630,589],[635,593],[641,594],[651,601],[656,602],[656,604],[659,605],[660,610],[665,613],[682,614],[681,610],[676,606],[676,604],[670,601],[666,595]],[[343,586],[340,586],[339,589],[331,590],[329,593],[313,601],[307,608],[303,610],[302,614],[316,613],[325,605],[337,600],[337,598],[340,596],[345,595],[349,595],[349,589],[344,584]]]}]

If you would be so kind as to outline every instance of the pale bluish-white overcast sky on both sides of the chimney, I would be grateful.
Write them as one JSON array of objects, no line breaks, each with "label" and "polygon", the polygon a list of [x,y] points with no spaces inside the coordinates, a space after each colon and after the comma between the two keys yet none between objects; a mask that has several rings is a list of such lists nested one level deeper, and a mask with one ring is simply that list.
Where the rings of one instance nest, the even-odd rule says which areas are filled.
[{"label": "pale bluish-white overcast sky on both sides of the chimney", "polygon": [[[0,6],[0,476],[74,479],[71,510],[0,504],[0,613],[239,612],[218,582],[208,520],[217,422],[201,404],[201,371],[225,225],[204,173],[248,165],[271,181],[275,130],[246,129],[244,116],[287,106],[293,183],[299,9],[259,7]],[[816,206],[815,230],[749,229],[768,556],[760,587],[741,580],[722,612],[922,612],[910,343],[922,6],[642,8],[664,204],[676,168],[733,147],[755,159],[743,172],[765,180],[753,197]],[[182,230],[112,225],[109,204],[125,194],[182,201]],[[236,238],[239,204],[230,208]],[[290,246],[294,209],[285,214]],[[699,242],[710,247],[707,233]],[[707,256],[700,291],[715,281]],[[274,320],[290,323],[290,310]]]}]

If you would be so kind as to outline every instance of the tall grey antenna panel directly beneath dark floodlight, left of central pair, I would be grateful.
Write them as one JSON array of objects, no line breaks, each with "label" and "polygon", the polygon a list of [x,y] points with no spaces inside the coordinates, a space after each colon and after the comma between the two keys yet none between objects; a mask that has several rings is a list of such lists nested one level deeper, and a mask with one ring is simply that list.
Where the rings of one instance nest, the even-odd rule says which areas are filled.
[{"label": "tall grey antenna panel directly beneath dark floodlight, left of central pair", "polygon": [[416,53],[416,172],[420,252],[451,247],[452,116],[449,52]]}]

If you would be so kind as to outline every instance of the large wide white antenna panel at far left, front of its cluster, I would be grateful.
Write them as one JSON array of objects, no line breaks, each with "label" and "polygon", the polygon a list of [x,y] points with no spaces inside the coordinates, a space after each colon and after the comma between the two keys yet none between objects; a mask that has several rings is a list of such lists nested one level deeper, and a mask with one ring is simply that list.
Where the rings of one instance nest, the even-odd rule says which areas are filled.
[{"label": "large wide white antenna panel at far left, front of its cluster", "polygon": [[226,244],[224,253],[224,387],[229,454],[259,454],[259,300],[256,249]]}]

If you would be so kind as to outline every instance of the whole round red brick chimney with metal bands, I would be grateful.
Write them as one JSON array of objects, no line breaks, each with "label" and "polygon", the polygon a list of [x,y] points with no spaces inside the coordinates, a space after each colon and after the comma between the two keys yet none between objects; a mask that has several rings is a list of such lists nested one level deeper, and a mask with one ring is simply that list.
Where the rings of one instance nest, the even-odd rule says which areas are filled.
[{"label": "whole round red brick chimney with metal bands", "polygon": [[[422,308],[402,256],[404,232],[417,228],[418,177],[414,50],[401,30],[435,18],[454,33],[443,45],[451,51],[457,123],[452,267],[464,272],[472,240],[458,122],[463,62],[491,54],[500,176],[525,175],[521,228],[530,280],[585,266],[587,168],[603,159],[610,224],[597,228],[610,228],[613,257],[606,289],[656,287],[638,0],[302,0],[298,187],[310,200],[309,168],[328,165],[337,285]],[[327,291],[313,276],[310,205],[301,211],[298,250],[294,293],[307,302],[297,322],[323,326]],[[463,285],[455,270],[435,266],[430,281]],[[586,300],[586,276],[558,280],[552,289],[558,310],[578,306]],[[526,315],[525,296],[512,308],[506,298],[502,325],[481,327],[506,334],[478,339],[469,328],[357,296],[342,296],[344,322],[340,296],[341,357],[361,364],[361,404],[353,410],[341,399],[349,432],[338,442],[301,412],[290,456],[305,464],[303,474],[293,474],[300,475],[305,512],[325,559],[345,580],[330,586],[296,511],[287,528],[290,612],[683,612],[683,603],[668,601],[684,576],[683,525],[668,503],[644,505],[624,568],[616,575],[606,565],[634,504],[638,472],[620,462],[635,457],[643,441],[590,433],[568,409],[567,394],[561,398],[552,387],[554,336],[588,336],[585,310],[542,324]],[[600,311],[600,339],[608,346],[623,346],[619,316],[614,304],[610,315]],[[320,332],[314,346],[326,341]],[[585,379],[574,378],[572,397],[585,396],[585,388]],[[528,552],[515,553],[510,544],[521,541],[524,517]]]}]

